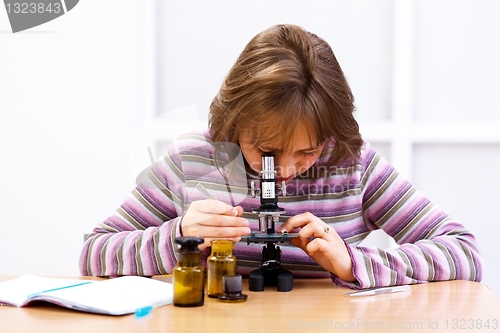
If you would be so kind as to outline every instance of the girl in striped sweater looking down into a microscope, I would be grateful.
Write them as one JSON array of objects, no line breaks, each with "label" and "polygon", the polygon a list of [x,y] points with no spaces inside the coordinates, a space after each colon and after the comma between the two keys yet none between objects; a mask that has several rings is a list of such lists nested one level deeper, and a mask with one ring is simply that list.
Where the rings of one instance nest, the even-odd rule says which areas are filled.
[{"label": "girl in striped sweater looking down into a microscope", "polygon": [[[293,25],[255,36],[210,106],[209,130],[179,138],[118,210],[86,239],[84,275],[168,274],[177,236],[210,241],[258,230],[261,155],[275,154],[285,214],[278,231],[300,229],[282,246],[295,276],[331,276],[368,288],[482,277],[474,236],[415,190],[364,142],[354,97],[330,46]],[[239,163],[240,162],[240,163]],[[196,190],[202,183],[218,200]],[[362,247],[383,229],[396,249]],[[258,267],[262,245],[238,242],[241,274]]]}]

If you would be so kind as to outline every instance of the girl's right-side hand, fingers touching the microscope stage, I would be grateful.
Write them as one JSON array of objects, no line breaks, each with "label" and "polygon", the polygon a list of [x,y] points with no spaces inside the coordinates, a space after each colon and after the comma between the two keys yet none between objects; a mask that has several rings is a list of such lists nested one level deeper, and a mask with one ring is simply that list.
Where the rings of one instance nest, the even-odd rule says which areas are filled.
[{"label": "girl's right-side hand, fingers touching the microscope stage", "polygon": [[300,247],[327,271],[344,281],[355,281],[352,261],[346,245],[339,234],[311,213],[291,217],[277,232],[291,232],[301,228],[299,237],[292,238],[292,244]]}]

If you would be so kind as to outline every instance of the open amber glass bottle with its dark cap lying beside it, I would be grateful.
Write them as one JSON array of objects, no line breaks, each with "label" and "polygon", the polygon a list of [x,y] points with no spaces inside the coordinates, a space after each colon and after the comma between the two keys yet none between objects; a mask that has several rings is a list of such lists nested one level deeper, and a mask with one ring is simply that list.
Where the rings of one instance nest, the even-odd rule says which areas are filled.
[{"label": "open amber glass bottle with its dark cap lying beside it", "polygon": [[233,255],[234,242],[227,239],[216,239],[210,242],[212,253],[207,259],[208,297],[217,298],[224,295],[222,277],[236,274],[236,257]]}]

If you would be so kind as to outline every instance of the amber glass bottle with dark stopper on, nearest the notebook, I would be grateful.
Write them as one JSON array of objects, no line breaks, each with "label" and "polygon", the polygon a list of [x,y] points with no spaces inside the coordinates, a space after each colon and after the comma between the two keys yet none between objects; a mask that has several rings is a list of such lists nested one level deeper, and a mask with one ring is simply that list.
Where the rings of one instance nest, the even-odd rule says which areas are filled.
[{"label": "amber glass bottle with dark stopper on, nearest the notebook", "polygon": [[177,237],[180,245],[177,250],[178,261],[174,267],[174,305],[191,307],[203,305],[205,270],[201,266],[201,252],[198,245],[203,243],[200,237]]}]

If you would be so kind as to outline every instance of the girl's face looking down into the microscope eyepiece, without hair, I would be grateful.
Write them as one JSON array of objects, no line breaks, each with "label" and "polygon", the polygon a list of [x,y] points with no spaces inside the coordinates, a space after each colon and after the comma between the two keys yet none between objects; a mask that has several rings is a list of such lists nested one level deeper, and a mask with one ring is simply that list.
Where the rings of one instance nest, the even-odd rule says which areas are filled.
[{"label": "girl's face looking down into the microscope eyepiece, without hair", "polygon": [[276,147],[272,142],[255,144],[248,132],[240,136],[240,147],[246,161],[257,173],[262,170],[262,154],[274,153],[274,167],[278,183],[283,180],[289,182],[294,177],[308,170],[319,158],[325,143],[317,144],[311,142],[311,137],[304,125],[298,125],[294,129],[294,136],[290,143],[290,149],[284,150]]}]

